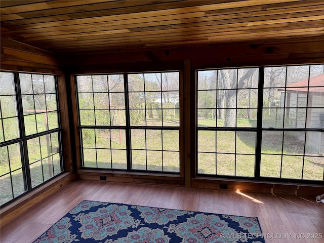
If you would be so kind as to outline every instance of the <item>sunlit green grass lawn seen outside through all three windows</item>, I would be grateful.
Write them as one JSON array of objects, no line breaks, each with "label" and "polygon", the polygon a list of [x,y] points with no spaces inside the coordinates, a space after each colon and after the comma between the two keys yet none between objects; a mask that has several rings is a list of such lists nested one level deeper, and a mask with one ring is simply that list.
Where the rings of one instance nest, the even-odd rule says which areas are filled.
[{"label": "sunlit green grass lawn seen outside through all three windows", "polygon": [[[35,132],[34,120],[28,123],[30,133]],[[224,120],[217,120],[219,126]],[[201,126],[215,126],[215,120],[201,119]],[[241,127],[255,126],[255,121],[238,119]],[[29,125],[28,125],[29,126]],[[83,129],[83,147],[85,167],[102,169],[127,169],[126,136],[125,130]],[[96,135],[95,135],[96,132]],[[49,165],[54,164],[52,175],[60,172],[59,154],[47,158],[46,136],[28,140],[28,152],[32,185],[35,186],[48,180],[51,176]],[[52,145],[58,146],[57,134],[51,135]],[[256,132],[233,131],[198,131],[198,173],[207,175],[229,175],[254,177]],[[95,146],[97,143],[97,148]],[[146,141],[146,143],[145,143]],[[316,151],[308,149],[303,159],[303,144],[301,140],[285,136],[283,154],[282,136],[274,132],[264,134],[262,138],[261,171],[263,177],[322,180],[324,158],[318,157]],[[39,145],[41,144],[41,145]],[[12,182],[14,196],[24,192],[22,170],[18,145],[10,148]],[[141,130],[131,131],[132,169],[179,172],[179,131]],[[145,151],[146,150],[146,151]],[[1,153],[7,150],[1,148]],[[42,153],[42,156],[41,156]],[[236,154],[236,155],[235,155]],[[9,172],[8,161],[0,163],[0,175]],[[43,178],[44,172],[44,178]],[[10,175],[0,179],[1,198],[4,203],[12,198]]]}]

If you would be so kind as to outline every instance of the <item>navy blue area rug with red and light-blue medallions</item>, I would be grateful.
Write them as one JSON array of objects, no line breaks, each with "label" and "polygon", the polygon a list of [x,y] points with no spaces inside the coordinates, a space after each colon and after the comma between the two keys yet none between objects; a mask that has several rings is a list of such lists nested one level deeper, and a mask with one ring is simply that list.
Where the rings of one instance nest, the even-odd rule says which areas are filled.
[{"label": "navy blue area rug with red and light-blue medallions", "polygon": [[34,243],[264,243],[258,218],[84,200]]}]

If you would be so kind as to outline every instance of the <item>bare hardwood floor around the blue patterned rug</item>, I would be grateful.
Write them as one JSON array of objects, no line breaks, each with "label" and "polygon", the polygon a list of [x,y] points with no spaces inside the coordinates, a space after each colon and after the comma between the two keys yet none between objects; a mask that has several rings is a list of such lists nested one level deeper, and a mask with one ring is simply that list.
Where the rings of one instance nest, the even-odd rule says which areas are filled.
[{"label": "bare hardwood floor around the blue patterned rug", "polygon": [[100,181],[62,187],[1,227],[0,241],[32,242],[84,199],[258,217],[267,243],[324,241],[324,204],[314,198]]}]

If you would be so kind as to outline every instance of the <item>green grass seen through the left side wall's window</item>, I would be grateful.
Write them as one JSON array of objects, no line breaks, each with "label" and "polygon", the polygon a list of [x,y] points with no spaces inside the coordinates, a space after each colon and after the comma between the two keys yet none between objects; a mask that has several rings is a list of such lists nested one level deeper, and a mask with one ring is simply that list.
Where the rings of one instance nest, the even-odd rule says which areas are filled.
[{"label": "green grass seen through the left side wall's window", "polygon": [[[25,116],[26,134],[35,134],[36,126],[38,132],[46,131],[44,114],[36,114],[36,117],[37,123],[35,121],[35,115]],[[49,129],[57,127],[56,113],[48,114],[48,124]],[[9,128],[16,131],[17,125],[11,124]],[[17,137],[18,133],[15,134],[14,138]],[[27,140],[32,187],[47,181],[61,172],[60,155],[59,153],[52,153],[51,150],[48,150],[48,145],[52,145],[53,147],[59,146],[58,133]],[[8,148],[9,154],[7,147],[0,148],[0,204],[6,203],[6,201],[25,191],[20,144],[12,144]],[[10,167],[8,156],[10,158]],[[10,171],[12,172],[11,175],[8,174]],[[13,186],[13,192],[11,185]]]}]

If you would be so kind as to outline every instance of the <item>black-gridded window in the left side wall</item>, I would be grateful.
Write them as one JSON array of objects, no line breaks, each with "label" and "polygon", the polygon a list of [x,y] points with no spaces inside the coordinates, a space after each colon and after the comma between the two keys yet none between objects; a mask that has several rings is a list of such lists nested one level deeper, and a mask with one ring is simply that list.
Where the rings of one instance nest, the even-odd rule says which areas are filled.
[{"label": "black-gridded window in the left side wall", "polygon": [[0,72],[1,205],[63,171],[53,75]]}]

